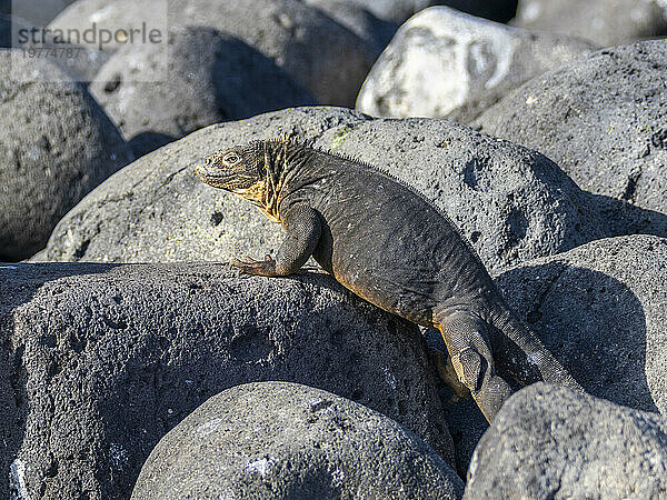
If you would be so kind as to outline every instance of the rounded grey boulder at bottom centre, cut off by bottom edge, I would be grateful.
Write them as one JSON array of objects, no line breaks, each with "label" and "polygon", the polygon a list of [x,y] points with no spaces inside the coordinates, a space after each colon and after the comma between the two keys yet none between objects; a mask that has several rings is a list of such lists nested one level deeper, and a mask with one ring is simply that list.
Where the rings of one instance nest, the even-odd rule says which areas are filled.
[{"label": "rounded grey boulder at bottom centre, cut off by bottom edge", "polygon": [[213,396],[165,436],[132,499],[462,493],[456,472],[387,417],[320,389],[261,382]]}]

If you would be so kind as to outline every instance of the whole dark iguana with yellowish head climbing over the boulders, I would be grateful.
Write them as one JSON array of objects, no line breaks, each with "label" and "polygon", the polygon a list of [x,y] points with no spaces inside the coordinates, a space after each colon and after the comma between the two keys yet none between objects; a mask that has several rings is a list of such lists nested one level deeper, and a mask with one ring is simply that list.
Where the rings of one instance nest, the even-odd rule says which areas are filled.
[{"label": "whole dark iguana with yellowish head climbing over the boulders", "polygon": [[509,311],[449,218],[387,172],[280,139],[219,151],[197,174],[287,232],[276,259],[232,260],[241,272],[287,276],[312,256],[359,297],[439,329],[459,381],[489,422],[512,393],[508,379],[581,391]]}]

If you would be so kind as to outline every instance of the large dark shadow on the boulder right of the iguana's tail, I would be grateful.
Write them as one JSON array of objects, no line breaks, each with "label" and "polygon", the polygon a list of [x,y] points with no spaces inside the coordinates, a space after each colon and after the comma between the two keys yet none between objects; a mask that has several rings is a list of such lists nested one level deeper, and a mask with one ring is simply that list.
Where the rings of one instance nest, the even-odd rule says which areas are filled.
[{"label": "large dark shadow on the boulder right of the iguana's tail", "polygon": [[510,269],[498,281],[515,310],[588,393],[658,412],[645,372],[646,317],[627,286],[558,261]]}]

